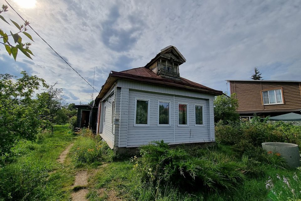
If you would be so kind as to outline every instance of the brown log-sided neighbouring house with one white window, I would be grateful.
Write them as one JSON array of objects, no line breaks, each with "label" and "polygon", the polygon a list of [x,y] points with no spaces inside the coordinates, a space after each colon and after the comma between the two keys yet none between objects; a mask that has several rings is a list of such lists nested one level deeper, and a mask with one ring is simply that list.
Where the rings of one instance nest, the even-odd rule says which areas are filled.
[{"label": "brown log-sided neighbouring house with one white window", "polygon": [[301,114],[301,81],[226,80],[230,93],[236,93],[240,116]]}]

